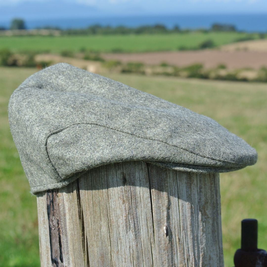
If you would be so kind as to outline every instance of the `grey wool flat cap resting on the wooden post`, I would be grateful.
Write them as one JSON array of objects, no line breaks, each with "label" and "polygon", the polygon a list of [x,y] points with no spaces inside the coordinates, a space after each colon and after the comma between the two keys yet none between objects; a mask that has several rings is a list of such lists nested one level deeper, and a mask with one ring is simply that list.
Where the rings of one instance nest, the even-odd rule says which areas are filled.
[{"label": "grey wool flat cap resting on the wooden post", "polygon": [[115,162],[209,173],[257,160],[252,147],[213,119],[63,63],[14,91],[9,123],[34,194]]}]

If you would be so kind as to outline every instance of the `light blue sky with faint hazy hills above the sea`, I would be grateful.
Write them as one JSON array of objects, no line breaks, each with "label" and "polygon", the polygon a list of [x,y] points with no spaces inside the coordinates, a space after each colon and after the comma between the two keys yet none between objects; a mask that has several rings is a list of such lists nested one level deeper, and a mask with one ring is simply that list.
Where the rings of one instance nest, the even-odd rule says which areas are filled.
[{"label": "light blue sky with faint hazy hills above the sea", "polygon": [[0,21],[158,14],[266,13],[267,0],[0,0]]}]

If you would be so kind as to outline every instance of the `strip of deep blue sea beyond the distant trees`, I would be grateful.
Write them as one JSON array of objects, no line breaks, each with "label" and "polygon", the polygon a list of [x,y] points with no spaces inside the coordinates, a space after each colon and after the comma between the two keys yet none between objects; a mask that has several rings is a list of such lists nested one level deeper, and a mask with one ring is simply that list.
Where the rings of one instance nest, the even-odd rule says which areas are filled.
[{"label": "strip of deep blue sea beyond the distant trees", "polygon": [[[2,22],[0,25],[9,26],[10,22]],[[218,14],[218,15],[157,15],[135,17],[88,17],[88,18],[62,18],[26,20],[28,29],[53,26],[61,29],[86,28],[90,25],[102,26],[127,26],[138,27],[143,25],[163,24],[167,28],[178,25],[181,29],[209,29],[213,23],[225,23],[235,25],[236,29],[245,32],[267,32],[266,14]]]}]

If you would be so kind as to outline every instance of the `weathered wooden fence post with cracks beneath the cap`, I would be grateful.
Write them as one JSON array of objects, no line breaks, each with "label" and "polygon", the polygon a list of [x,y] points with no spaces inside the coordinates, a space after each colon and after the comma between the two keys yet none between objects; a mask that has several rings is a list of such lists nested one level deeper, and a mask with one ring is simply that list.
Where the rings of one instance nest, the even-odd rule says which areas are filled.
[{"label": "weathered wooden fence post with cracks beneath the cap", "polygon": [[115,163],[37,204],[41,266],[223,266],[219,174]]}]

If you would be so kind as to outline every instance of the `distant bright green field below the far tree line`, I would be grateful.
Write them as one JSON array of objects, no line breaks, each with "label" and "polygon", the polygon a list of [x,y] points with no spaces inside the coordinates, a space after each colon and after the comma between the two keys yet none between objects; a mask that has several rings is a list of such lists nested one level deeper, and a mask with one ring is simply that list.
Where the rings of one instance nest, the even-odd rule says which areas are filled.
[{"label": "distant bright green field below the far tree line", "polygon": [[[190,32],[176,34],[141,35],[91,35],[91,36],[2,36],[0,49],[14,51],[46,51],[58,53],[62,50],[79,51],[81,48],[99,52],[146,52],[198,48],[206,40],[213,40],[216,46],[229,44],[248,36],[238,32]],[[257,34],[253,35],[257,38]]]}]

